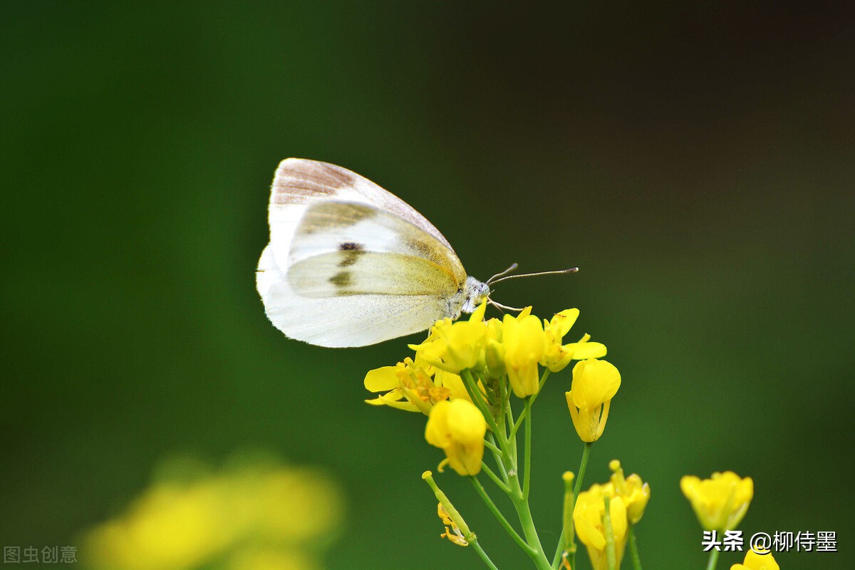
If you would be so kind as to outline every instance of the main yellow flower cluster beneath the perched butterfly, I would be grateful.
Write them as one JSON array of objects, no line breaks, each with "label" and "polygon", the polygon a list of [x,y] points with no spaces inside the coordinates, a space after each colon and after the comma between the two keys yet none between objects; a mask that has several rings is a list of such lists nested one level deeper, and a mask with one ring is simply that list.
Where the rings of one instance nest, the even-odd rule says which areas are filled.
[{"label": "main yellow flower cluster beneath the perched butterfly", "polygon": [[[469,320],[437,321],[422,344],[410,344],[416,351],[414,358],[367,373],[365,387],[380,395],[366,402],[428,415],[428,443],[445,451],[444,463],[457,473],[475,475],[481,472],[487,423],[482,413],[486,408],[475,405],[472,398],[497,404],[495,386],[503,382],[506,385],[498,393],[530,397],[540,390],[540,367],[555,373],[574,359],[589,359],[576,365],[572,395],[568,392],[567,397],[576,429],[580,435],[590,432],[582,438],[598,438],[609,411],[609,403],[602,398],[614,396],[620,374],[608,362],[596,360],[606,348],[588,342],[587,334],[578,342],[563,344],[579,309],[563,310],[551,320],[540,320],[531,314],[531,307],[516,316],[505,314],[502,320],[484,320],[485,312],[483,303]],[[462,375],[469,378],[469,374],[467,386]],[[492,397],[485,385],[494,387]]]}]

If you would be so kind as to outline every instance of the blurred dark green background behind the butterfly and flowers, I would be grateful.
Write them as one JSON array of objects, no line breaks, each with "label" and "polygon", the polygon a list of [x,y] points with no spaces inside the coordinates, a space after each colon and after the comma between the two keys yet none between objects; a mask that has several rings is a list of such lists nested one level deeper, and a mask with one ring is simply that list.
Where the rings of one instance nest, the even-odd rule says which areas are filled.
[{"label": "blurred dark green background behind the butterfly and flowers", "polygon": [[[424,418],[363,403],[408,339],[321,349],[263,314],[269,182],[302,156],[404,198],[481,279],[581,267],[495,297],[579,307],[608,345],[623,385],[587,482],[616,457],[650,482],[647,565],[704,567],[678,481],[732,469],[755,481],[746,533],[838,532],[781,567],[852,567],[851,5],[0,12],[3,545],[78,544],[163,458],[261,448],[342,485],[327,567],[479,567],[439,540]],[[569,377],[534,415],[550,551],[581,453]],[[439,484],[527,567],[467,481]]]}]

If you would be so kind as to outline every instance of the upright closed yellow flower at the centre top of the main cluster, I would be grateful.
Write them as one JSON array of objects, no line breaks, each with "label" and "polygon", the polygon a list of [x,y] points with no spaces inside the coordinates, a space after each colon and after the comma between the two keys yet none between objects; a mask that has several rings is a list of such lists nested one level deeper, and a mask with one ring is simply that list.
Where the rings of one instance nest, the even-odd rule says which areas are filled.
[{"label": "upright closed yellow flower at the centre top of the main cluster", "polygon": [[545,336],[540,319],[530,314],[531,308],[519,316],[505,314],[502,320],[504,364],[510,388],[516,397],[536,394],[540,384],[538,362],[543,356]]}]

